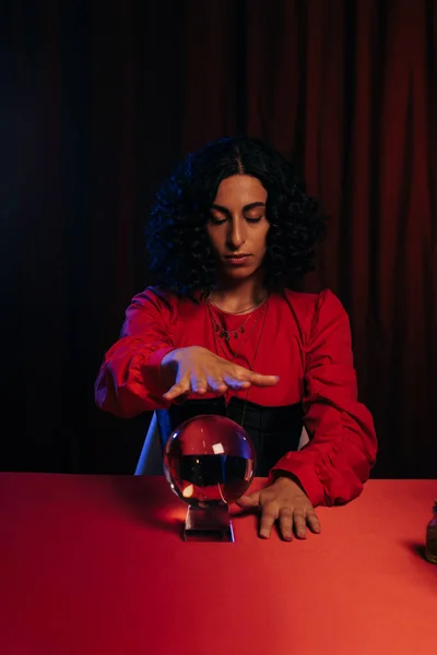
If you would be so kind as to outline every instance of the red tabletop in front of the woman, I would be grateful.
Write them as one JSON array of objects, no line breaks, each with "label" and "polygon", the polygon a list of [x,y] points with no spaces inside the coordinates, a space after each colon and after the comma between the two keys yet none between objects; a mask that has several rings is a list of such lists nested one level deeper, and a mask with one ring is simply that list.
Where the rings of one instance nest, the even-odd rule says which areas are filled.
[{"label": "red tabletop in front of the woman", "polygon": [[[256,480],[255,487],[261,481]],[[370,480],[306,541],[180,539],[163,478],[0,475],[0,653],[437,653],[434,480]]]}]

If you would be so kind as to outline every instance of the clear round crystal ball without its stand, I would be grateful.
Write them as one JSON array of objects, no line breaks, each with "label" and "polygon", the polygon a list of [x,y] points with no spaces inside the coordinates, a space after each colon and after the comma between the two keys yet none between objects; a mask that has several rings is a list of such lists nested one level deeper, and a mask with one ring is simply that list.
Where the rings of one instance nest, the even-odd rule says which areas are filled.
[{"label": "clear round crystal ball without its stand", "polygon": [[246,430],[212,414],[181,424],[164,451],[168,484],[192,507],[236,501],[249,488],[255,464],[255,448]]}]

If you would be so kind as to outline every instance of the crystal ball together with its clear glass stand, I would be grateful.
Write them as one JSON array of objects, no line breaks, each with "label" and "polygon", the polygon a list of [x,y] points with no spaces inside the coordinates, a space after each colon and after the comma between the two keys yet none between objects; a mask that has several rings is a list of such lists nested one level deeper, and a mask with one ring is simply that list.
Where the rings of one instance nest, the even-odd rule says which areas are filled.
[{"label": "crystal ball together with its clear glass stand", "polygon": [[235,540],[228,505],[249,488],[255,465],[250,437],[224,416],[190,418],[169,436],[164,473],[188,504],[184,540]]}]

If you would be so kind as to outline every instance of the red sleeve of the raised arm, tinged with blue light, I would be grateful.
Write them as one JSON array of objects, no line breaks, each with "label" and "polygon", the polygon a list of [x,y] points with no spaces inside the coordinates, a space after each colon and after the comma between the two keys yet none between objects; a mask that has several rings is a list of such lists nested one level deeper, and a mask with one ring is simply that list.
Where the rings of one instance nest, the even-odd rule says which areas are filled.
[{"label": "red sleeve of the raised arm, tinged with blue light", "polygon": [[167,407],[161,362],[175,349],[172,302],[152,288],[135,296],[126,311],[121,338],[106,353],[96,383],[101,409],[121,418]]}]

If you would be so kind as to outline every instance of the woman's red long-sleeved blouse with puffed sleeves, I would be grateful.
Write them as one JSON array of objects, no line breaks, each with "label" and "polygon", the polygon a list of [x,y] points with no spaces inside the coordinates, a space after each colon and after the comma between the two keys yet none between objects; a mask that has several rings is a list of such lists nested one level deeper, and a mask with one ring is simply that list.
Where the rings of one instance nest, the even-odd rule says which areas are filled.
[{"label": "woman's red long-sleeved blouse with puffed sleeves", "polygon": [[[161,361],[175,348],[203,346],[252,370],[280,377],[275,386],[249,390],[263,406],[302,403],[309,443],[272,471],[294,475],[314,505],[344,503],[363,489],[377,441],[367,408],[357,401],[349,318],[329,290],[272,295],[251,314],[222,312],[158,288],[135,296],[121,338],[107,352],[95,384],[97,405],[120,417],[166,408]],[[216,324],[232,334],[228,345]],[[244,324],[243,332],[239,330]],[[256,353],[255,361],[253,356]],[[228,392],[246,397],[246,391]],[[211,397],[206,394],[202,397]]]}]

